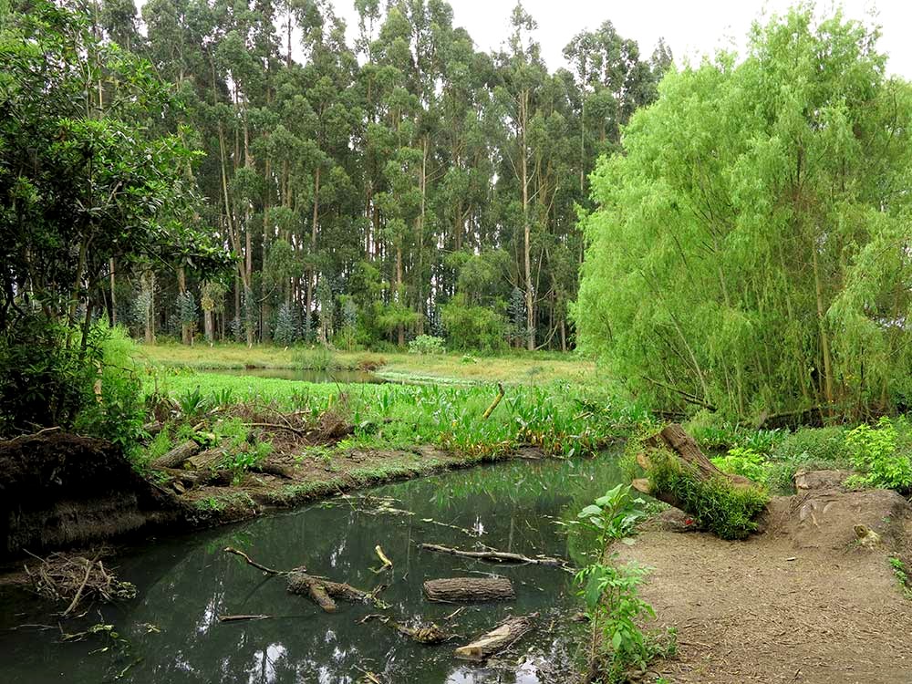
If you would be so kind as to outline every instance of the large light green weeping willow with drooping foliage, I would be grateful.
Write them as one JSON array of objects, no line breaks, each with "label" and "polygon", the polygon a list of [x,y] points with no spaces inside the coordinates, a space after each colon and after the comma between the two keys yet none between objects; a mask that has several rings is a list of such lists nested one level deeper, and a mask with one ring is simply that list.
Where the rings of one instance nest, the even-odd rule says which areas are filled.
[{"label": "large light green weeping willow with drooping foliage", "polygon": [[600,161],[575,320],[655,406],[905,406],[912,91],[877,36],[806,7],[755,25]]}]

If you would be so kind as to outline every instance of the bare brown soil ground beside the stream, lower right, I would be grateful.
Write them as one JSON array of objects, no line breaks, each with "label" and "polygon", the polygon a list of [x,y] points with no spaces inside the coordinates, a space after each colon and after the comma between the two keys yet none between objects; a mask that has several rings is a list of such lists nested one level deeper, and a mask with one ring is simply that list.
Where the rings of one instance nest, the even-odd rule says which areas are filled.
[{"label": "bare brown soil ground beside the stream, lower right", "polygon": [[[643,596],[678,629],[679,657],[652,672],[679,684],[912,682],[912,601],[887,563],[908,563],[909,513],[895,492],[824,486],[774,500],[745,542],[661,516],[618,550],[654,568]],[[855,524],[881,541],[859,544]]]}]

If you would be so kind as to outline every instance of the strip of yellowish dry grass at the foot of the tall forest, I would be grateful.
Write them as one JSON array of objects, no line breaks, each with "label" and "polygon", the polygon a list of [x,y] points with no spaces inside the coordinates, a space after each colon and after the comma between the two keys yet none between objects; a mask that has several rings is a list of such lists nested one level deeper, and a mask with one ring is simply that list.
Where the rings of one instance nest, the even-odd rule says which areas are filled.
[{"label": "strip of yellowish dry grass at the foot of the tall forest", "polygon": [[372,369],[382,378],[447,382],[504,382],[546,385],[558,380],[596,384],[596,364],[575,354],[516,351],[497,357],[465,354],[326,351],[322,348],[219,344],[213,347],[161,344],[138,347],[140,362],[159,368]]}]

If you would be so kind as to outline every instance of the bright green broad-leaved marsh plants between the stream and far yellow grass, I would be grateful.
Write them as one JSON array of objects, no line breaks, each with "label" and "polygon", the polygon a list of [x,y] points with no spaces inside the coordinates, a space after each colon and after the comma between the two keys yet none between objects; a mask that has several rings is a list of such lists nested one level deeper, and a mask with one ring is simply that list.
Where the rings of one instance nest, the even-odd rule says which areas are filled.
[{"label": "bright green broad-leaved marsh plants between the stream and far yellow grass", "polygon": [[645,418],[604,390],[568,383],[508,388],[488,420],[482,420],[482,414],[496,396],[493,386],[335,385],[159,371],[147,377],[145,392],[167,395],[194,411],[218,406],[225,397],[299,411],[313,420],[333,410],[355,428],[347,448],[434,444],[477,459],[522,445],[565,456],[592,453]]}]

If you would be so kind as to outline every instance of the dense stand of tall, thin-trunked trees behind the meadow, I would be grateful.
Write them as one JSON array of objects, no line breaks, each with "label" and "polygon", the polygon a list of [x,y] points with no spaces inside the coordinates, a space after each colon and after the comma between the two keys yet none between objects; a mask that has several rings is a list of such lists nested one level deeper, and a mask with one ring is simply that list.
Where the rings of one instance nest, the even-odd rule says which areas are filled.
[{"label": "dense stand of tall, thin-trunked trees behind the meadow", "polygon": [[573,346],[587,177],[656,97],[668,48],[643,57],[606,22],[549,72],[522,5],[493,54],[445,2],[356,5],[354,45],[331,2],[78,5],[71,47],[98,61],[70,75],[85,98],[68,106],[122,114],[112,60],[148,60],[172,101],[133,107],[134,135],[177,136],[198,201],[173,220],[233,254],[215,275],[88,254],[80,311],[148,342]]}]

